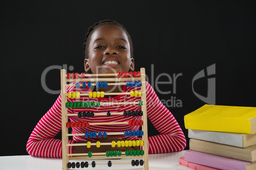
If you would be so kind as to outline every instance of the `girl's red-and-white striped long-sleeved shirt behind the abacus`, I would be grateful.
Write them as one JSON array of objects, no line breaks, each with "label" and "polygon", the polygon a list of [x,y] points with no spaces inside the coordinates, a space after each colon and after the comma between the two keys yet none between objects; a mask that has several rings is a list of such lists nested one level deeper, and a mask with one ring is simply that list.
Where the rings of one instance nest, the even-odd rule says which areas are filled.
[{"label": "girl's red-and-white striped long-sleeved shirt behind the abacus", "polygon": [[[130,92],[141,90],[141,88],[124,86],[122,92]],[[68,86],[67,92],[80,91],[80,93],[88,93],[92,91],[90,88],[76,88],[75,86]],[[81,96],[80,98],[68,98],[69,102],[75,101],[101,101],[101,102],[131,102],[139,101],[141,97],[131,97],[130,95],[118,95],[113,98],[89,98],[88,96]],[[148,119],[152,122],[153,126],[159,131],[159,135],[148,137],[148,154],[158,154],[166,152],[177,152],[183,150],[186,146],[185,136],[181,130],[178,122],[174,116],[167,110],[160,102],[159,98],[155,94],[152,86],[146,82],[146,108]],[[100,107],[91,108],[68,108],[68,114],[78,114],[78,112],[124,112],[128,110],[141,110],[139,105],[101,105]],[[124,115],[94,115],[94,117],[69,117],[71,122],[89,121],[92,122],[127,122],[131,120],[141,120],[138,116]],[[72,133],[85,133],[85,131],[106,131],[108,132],[124,132],[138,130],[139,126],[128,126],[127,124],[120,125],[93,125],[89,128],[73,128]],[[30,155],[36,157],[62,157],[62,141],[54,139],[57,133],[61,130],[61,95],[55,101],[54,105],[38,122],[36,127],[31,133],[29,140],[27,141],[27,152]],[[135,140],[136,136],[124,136],[118,137],[124,140]],[[73,140],[69,140],[69,143],[75,143],[75,141],[97,140],[97,138],[85,138],[85,136],[73,136]],[[69,153],[72,154],[73,147],[69,147]]]}]

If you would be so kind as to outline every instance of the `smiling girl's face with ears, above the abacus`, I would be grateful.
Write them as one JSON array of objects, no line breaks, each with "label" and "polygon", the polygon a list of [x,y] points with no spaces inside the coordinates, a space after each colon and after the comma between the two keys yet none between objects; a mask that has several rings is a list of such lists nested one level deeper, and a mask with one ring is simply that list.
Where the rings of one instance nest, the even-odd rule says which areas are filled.
[{"label": "smiling girl's face with ears, above the abacus", "polygon": [[134,70],[129,39],[117,25],[101,25],[90,37],[89,57],[85,71],[93,74],[127,72]]}]

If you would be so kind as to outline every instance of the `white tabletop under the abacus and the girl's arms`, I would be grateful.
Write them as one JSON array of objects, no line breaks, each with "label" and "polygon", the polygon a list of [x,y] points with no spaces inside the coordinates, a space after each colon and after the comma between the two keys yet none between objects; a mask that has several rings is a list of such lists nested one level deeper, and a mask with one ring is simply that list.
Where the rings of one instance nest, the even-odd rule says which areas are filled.
[{"label": "white tabletop under the abacus and the girl's arms", "polygon": [[[150,170],[167,170],[167,169],[180,169],[180,170],[191,170],[188,167],[181,166],[178,164],[178,159],[184,156],[185,151],[167,153],[167,154],[150,154],[149,167]],[[134,159],[134,158],[133,158]],[[127,160],[127,161],[126,161]],[[125,159],[125,162],[131,162],[132,158]],[[77,160],[82,162],[84,160]],[[70,160],[70,162],[77,162],[76,160]],[[91,162],[89,160],[88,162]],[[124,162],[124,159],[115,159],[114,161]],[[108,162],[108,160],[96,160],[96,167],[89,166],[87,168],[80,169],[143,169],[141,166],[131,166],[131,164],[118,165],[113,164],[111,167],[98,165],[97,162]],[[19,170],[61,170],[62,159],[53,158],[41,158],[32,157],[31,155],[20,155],[20,156],[4,156],[0,157],[0,169],[19,169]],[[72,168],[71,168],[72,169]]]}]

